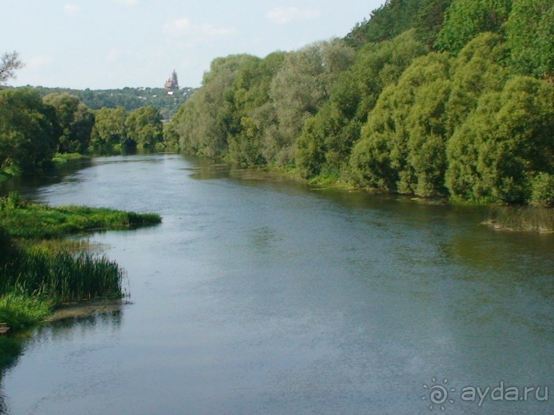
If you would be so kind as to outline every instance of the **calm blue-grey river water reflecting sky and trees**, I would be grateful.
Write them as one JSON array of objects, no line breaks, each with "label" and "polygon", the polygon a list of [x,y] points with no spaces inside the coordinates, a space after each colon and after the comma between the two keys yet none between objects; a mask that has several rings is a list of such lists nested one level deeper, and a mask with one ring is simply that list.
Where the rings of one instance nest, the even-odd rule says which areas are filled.
[{"label": "calm blue-grey river water reflecting sky and trees", "polygon": [[91,236],[130,304],[37,329],[5,414],[554,413],[554,235],[176,154],[19,191],[163,223]]}]

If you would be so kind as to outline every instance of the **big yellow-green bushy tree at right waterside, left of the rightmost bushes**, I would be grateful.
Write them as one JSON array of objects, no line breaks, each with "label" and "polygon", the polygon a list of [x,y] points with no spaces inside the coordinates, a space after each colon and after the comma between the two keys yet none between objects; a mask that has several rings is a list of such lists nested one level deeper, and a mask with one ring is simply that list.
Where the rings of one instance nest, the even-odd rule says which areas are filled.
[{"label": "big yellow-green bushy tree at right waterside, left of the rightmost bushes", "polygon": [[440,195],[446,169],[450,59],[416,58],[383,91],[351,157],[354,180],[400,193]]}]

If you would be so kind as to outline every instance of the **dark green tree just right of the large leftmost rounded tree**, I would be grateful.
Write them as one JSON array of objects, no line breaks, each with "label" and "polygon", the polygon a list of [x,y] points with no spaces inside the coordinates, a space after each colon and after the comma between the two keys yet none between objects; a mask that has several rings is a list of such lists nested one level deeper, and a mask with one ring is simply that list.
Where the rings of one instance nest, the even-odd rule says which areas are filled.
[{"label": "dark green tree just right of the large leftmost rounded tree", "polygon": [[43,98],[56,109],[62,134],[58,139],[58,152],[84,154],[91,141],[94,115],[75,95],[50,94]]}]

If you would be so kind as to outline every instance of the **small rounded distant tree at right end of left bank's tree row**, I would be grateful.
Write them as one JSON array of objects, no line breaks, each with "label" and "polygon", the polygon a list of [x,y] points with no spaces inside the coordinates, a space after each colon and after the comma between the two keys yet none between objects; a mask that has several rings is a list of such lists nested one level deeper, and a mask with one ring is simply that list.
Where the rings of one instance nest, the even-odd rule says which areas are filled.
[{"label": "small rounded distant tree at right end of left bank's tree row", "polygon": [[126,145],[133,143],[143,147],[154,147],[163,141],[163,123],[158,108],[143,106],[129,112],[125,120]]}]

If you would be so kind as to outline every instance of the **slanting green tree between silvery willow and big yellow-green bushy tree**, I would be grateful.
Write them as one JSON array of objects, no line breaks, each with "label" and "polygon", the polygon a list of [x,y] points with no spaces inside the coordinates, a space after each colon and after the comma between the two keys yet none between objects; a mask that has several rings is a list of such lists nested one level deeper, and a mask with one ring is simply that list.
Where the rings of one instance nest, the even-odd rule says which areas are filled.
[{"label": "slanting green tree between silvery willow and big yellow-green bushy tree", "polygon": [[301,176],[316,176],[321,169],[345,169],[351,147],[383,88],[400,78],[416,56],[426,53],[413,31],[362,47],[354,64],[334,83],[330,99],[304,124],[296,152]]}]

